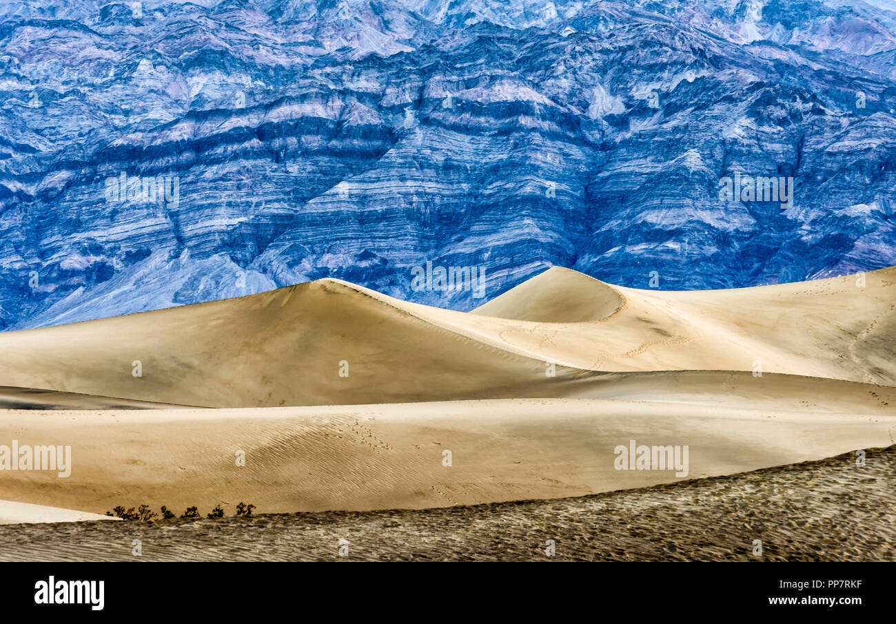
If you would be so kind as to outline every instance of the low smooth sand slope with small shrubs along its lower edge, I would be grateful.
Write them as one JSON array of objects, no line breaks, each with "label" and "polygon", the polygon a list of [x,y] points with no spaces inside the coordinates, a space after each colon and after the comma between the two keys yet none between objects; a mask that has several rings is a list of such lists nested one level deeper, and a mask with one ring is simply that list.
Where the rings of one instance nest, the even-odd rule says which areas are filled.
[{"label": "low smooth sand slope with small shrubs along its lower edge", "polygon": [[[419,509],[642,487],[888,446],[896,416],[589,399],[236,410],[19,412],[0,440],[70,444],[72,474],[4,474],[4,497],[96,513]],[[688,446],[687,474],[614,450]],[[451,466],[445,466],[445,451]],[[237,466],[237,451],[246,466]]]}]

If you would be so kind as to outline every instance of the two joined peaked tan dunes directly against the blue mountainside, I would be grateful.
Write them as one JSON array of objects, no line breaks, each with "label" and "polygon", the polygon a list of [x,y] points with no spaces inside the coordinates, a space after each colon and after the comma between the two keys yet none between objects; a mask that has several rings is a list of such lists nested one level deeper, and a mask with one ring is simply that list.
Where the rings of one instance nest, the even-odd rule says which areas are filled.
[{"label": "two joined peaked tan dunes directly against the blue mountainside", "polygon": [[213,407],[563,397],[583,371],[761,366],[893,386],[894,277],[662,292],[550,269],[472,314],[323,279],[0,334],[0,383]]}]

